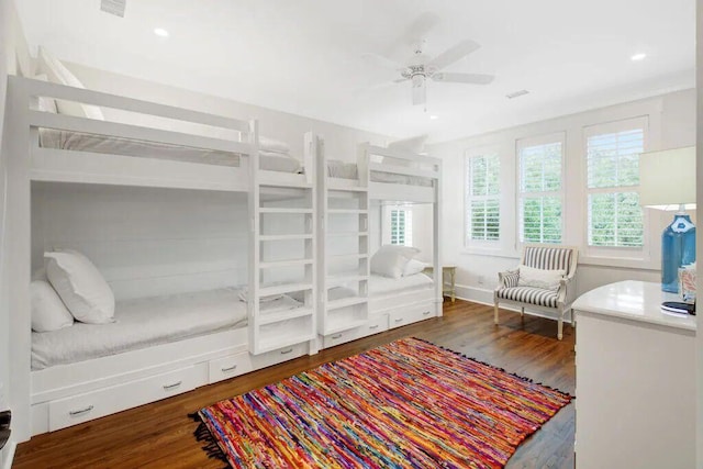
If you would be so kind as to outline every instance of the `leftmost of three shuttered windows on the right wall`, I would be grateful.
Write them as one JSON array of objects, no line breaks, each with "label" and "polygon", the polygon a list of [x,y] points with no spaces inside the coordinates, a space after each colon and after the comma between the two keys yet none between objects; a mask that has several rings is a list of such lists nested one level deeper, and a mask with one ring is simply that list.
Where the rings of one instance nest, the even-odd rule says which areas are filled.
[{"label": "leftmost of three shuttered windows on the right wall", "polygon": [[500,169],[496,154],[466,158],[466,245],[500,238]]}]

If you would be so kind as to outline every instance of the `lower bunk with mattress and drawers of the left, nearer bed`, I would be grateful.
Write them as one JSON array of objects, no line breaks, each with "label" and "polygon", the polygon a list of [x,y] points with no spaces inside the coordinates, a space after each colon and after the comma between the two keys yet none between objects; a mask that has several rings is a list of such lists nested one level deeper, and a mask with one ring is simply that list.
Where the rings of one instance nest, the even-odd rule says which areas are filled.
[{"label": "lower bunk with mattress and drawers of the left, nearer bed", "polygon": [[[32,334],[32,434],[53,432],[311,351],[250,355],[246,303],[226,288],[118,302],[115,322]],[[283,297],[261,312],[300,306]],[[284,327],[284,324],[281,325]]]}]

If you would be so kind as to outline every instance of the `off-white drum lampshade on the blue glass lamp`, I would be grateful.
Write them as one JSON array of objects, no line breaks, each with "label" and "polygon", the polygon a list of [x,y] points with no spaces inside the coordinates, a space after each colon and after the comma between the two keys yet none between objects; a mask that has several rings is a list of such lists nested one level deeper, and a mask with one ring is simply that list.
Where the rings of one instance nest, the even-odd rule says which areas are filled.
[{"label": "off-white drum lampshade on the blue glass lamp", "polygon": [[660,210],[695,206],[695,147],[639,155],[639,204]]}]

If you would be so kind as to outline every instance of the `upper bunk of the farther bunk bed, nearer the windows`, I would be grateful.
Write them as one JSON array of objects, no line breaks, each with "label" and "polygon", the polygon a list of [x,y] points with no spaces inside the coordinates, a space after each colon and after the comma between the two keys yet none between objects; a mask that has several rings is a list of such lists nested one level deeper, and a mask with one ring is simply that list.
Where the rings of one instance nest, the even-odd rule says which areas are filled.
[{"label": "upper bunk of the farther bunk bed, nearer the windows", "polygon": [[333,191],[368,191],[369,199],[403,203],[437,203],[442,160],[400,148],[360,144],[357,163],[317,155],[323,187]]}]

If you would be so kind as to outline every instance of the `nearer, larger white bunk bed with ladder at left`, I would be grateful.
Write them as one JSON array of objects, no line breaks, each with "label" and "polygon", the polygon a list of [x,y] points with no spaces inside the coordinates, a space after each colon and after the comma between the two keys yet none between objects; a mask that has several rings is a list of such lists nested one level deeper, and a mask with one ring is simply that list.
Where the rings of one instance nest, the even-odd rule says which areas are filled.
[{"label": "nearer, larger white bunk bed with ladder at left", "polygon": [[[214,138],[43,112],[37,107],[40,97],[224,129],[235,132],[238,138]],[[10,372],[13,378],[13,429],[20,440],[316,351],[313,340],[316,327],[313,301],[316,297],[313,257],[316,198],[310,152],[305,153],[308,170],[304,174],[291,171],[286,164],[280,170],[276,161],[272,165],[263,163],[259,167],[255,121],[19,77],[9,79],[8,103],[8,131],[13,138],[8,141],[11,158],[7,168],[5,252],[9,254],[4,270],[12,272],[7,301],[13,312],[10,315]],[[72,141],[72,144],[66,144],[66,141]],[[32,187],[42,183],[246,193],[250,232],[248,301],[237,302],[233,291],[215,291],[118,302],[116,316],[121,327],[129,327],[129,319],[134,320],[134,315],[145,309],[159,309],[161,321],[154,319],[158,338],[145,334],[125,345],[108,333],[98,333],[98,328],[77,324],[71,326],[76,328],[70,333],[80,334],[80,328],[89,328],[96,337],[102,338],[98,342],[112,344],[112,348],[64,350],[65,357],[58,361],[33,356],[31,194]],[[281,202],[291,199],[303,203],[289,206]],[[293,225],[300,228],[292,234],[269,233],[266,226],[271,224],[271,216],[298,217]],[[299,257],[276,259],[276,249],[268,245],[289,241],[302,243]],[[302,280],[279,279],[276,284],[266,284],[271,270],[286,267],[301,268]],[[271,308],[274,303],[260,301],[265,297],[286,293],[300,295],[299,308],[290,304]],[[183,304],[192,308],[183,308]],[[208,308],[213,310],[214,319],[207,327],[187,327],[186,324],[193,321],[192,314],[189,315],[193,309],[204,311]],[[231,314],[227,314],[227,308],[231,308]],[[163,337],[158,334],[159,324],[168,322],[164,321],[164,314],[171,310],[174,314],[180,311],[181,315],[172,322],[172,336]],[[57,333],[70,336],[67,330]],[[60,334],[56,340],[60,340],[58,336]],[[71,339],[80,342],[75,336]],[[56,351],[53,346],[56,342],[52,340],[47,336],[34,351],[38,353],[42,347],[44,351]],[[118,350],[120,353],[114,354]],[[78,355],[66,358],[70,354]]]}]

